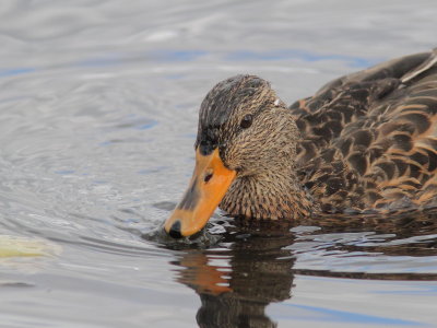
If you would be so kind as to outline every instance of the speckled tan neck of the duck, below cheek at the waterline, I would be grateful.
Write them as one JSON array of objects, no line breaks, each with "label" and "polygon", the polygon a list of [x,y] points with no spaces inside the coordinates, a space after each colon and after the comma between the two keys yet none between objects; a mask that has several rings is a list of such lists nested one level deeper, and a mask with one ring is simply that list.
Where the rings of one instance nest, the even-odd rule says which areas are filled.
[{"label": "speckled tan neck of the duck, below cheek at the waterline", "polygon": [[292,165],[237,178],[220,204],[229,215],[271,220],[308,216],[312,207]]}]

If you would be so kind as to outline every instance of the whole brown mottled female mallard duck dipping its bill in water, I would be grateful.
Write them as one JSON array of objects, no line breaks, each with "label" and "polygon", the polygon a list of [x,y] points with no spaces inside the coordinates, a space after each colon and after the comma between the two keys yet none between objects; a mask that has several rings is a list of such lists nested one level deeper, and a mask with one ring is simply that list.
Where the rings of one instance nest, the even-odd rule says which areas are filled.
[{"label": "whole brown mottled female mallard duck dipping its bill in water", "polygon": [[437,50],[328,83],[290,108],[270,84],[237,75],[200,107],[196,168],[165,222],[200,231],[229,215],[298,220],[437,200]]}]

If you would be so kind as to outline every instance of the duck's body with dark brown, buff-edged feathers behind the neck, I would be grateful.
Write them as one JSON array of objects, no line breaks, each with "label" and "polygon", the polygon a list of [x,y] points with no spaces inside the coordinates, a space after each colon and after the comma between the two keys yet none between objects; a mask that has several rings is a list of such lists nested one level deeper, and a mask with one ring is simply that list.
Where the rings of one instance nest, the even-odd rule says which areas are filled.
[{"label": "duck's body with dark brown, buff-edged feathers behind the neck", "polygon": [[437,50],[334,80],[292,109],[300,181],[323,211],[436,204]]}]

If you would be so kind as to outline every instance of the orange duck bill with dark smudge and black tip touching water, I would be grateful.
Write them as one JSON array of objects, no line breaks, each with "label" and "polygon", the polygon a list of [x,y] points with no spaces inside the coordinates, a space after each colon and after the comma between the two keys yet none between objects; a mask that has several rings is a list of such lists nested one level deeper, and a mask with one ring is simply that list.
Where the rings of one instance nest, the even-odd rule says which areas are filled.
[{"label": "orange duck bill with dark smudge and black tip touching water", "polygon": [[165,231],[175,238],[199,232],[208,222],[232,181],[236,172],[228,169],[215,149],[209,155],[196,151],[196,168],[182,200],[165,221]]}]

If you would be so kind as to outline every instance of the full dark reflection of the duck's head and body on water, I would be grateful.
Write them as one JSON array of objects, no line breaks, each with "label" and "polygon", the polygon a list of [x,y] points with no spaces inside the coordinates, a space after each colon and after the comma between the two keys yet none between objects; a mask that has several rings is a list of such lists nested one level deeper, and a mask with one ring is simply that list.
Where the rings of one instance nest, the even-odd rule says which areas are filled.
[{"label": "full dark reflection of the duck's head and body on water", "polygon": [[[374,255],[397,256],[435,256],[436,227],[434,225],[412,226],[411,222],[437,222],[437,209],[429,213],[416,213],[415,220],[399,216],[390,222],[398,222],[399,226],[390,225],[391,234],[376,234],[377,243],[369,241],[363,245],[357,236],[357,244],[334,241],[332,247],[346,253],[367,253]],[[344,218],[338,218],[344,220]],[[404,222],[402,226],[400,223]],[[272,225],[272,222],[258,223]],[[417,272],[342,272],[327,270],[295,269],[293,244],[300,243],[298,234],[290,232],[284,226],[241,226],[239,222],[236,231],[225,233],[221,244],[210,249],[186,249],[180,251],[178,259],[173,263],[178,266],[177,280],[193,289],[200,296],[201,307],[197,314],[200,327],[245,328],[245,327],[276,327],[265,314],[265,307],[275,302],[283,302],[292,297],[294,274],[310,274],[321,277],[336,277],[347,279],[377,279],[377,280],[436,280],[435,273]],[[253,224],[253,223],[250,223]],[[249,224],[249,225],[250,225]],[[279,224],[279,223],[277,223]],[[285,223],[282,223],[285,224]],[[338,227],[338,224],[335,224]],[[345,230],[346,233],[351,230]],[[352,230],[358,232],[358,230]],[[365,230],[368,231],[368,230]],[[328,233],[328,226],[310,233],[308,238]],[[336,230],[335,230],[336,232]],[[429,238],[423,238],[425,236]],[[420,236],[423,236],[422,238]],[[417,239],[415,239],[417,237]],[[297,239],[296,239],[297,238]],[[392,243],[394,242],[394,243]]]}]

